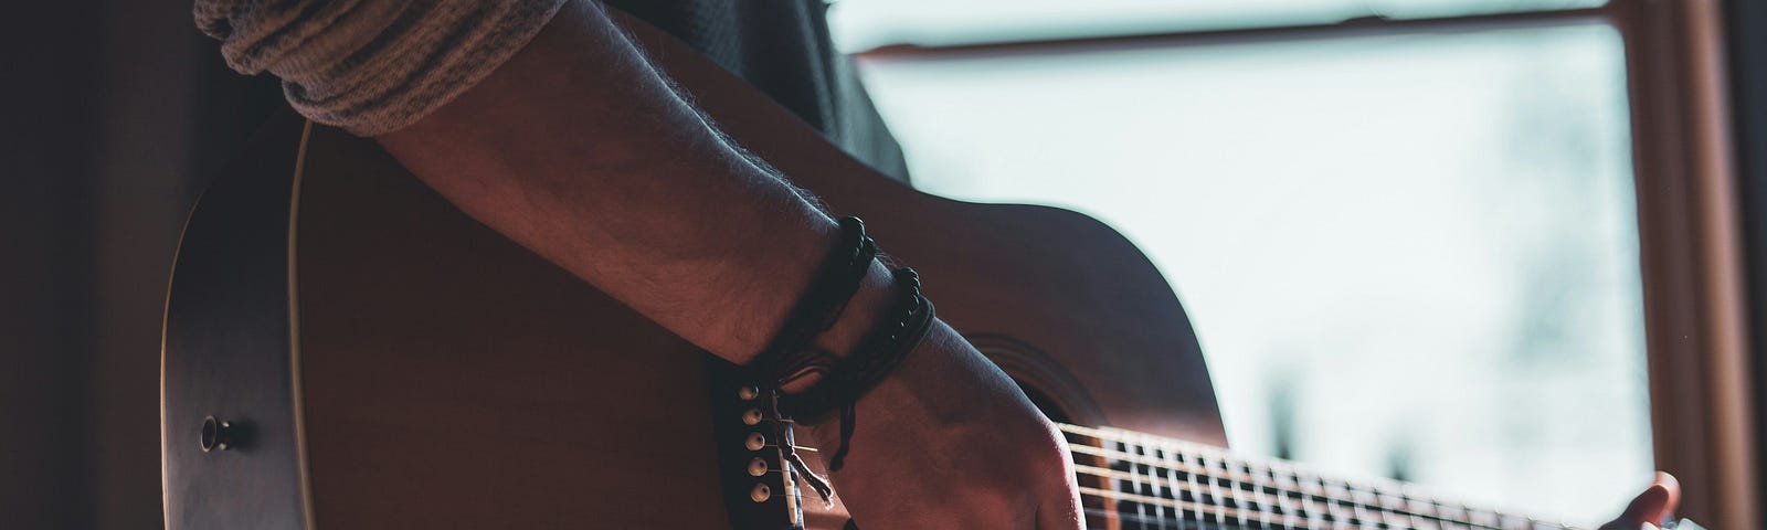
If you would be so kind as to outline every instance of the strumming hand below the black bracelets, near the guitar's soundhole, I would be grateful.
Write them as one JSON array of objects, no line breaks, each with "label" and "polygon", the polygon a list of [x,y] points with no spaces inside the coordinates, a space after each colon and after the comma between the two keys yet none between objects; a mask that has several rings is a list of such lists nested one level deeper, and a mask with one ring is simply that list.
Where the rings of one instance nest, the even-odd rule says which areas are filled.
[{"label": "strumming hand below the black bracelets, near the guitar's soundhole", "polygon": [[[859,528],[1080,528],[1066,440],[944,323],[859,399],[853,420],[832,481]],[[809,433],[832,450],[839,424]]]}]

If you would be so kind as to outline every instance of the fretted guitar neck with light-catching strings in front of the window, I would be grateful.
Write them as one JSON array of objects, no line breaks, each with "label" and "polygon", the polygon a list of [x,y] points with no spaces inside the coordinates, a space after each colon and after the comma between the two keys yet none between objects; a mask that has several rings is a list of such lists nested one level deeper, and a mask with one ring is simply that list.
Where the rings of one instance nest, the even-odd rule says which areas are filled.
[{"label": "fretted guitar neck with light-catching strings in front of the window", "polygon": [[1573,528],[1445,502],[1396,481],[1331,479],[1134,431],[1060,429],[1088,528]]}]

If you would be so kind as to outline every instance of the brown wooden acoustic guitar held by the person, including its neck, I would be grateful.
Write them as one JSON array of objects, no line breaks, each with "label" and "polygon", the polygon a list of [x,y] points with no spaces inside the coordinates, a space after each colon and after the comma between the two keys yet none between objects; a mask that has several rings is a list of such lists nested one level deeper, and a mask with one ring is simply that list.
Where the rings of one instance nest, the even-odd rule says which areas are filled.
[{"label": "brown wooden acoustic guitar held by the person, including its neck", "polygon": [[[922,272],[940,316],[1060,422],[1090,528],[1566,528],[1219,449],[1191,325],[1124,237],[915,193],[620,21],[732,138]],[[795,442],[719,362],[468,219],[373,141],[290,115],[184,228],[161,362],[166,523],[852,525],[839,495],[802,491],[779,461]]]}]

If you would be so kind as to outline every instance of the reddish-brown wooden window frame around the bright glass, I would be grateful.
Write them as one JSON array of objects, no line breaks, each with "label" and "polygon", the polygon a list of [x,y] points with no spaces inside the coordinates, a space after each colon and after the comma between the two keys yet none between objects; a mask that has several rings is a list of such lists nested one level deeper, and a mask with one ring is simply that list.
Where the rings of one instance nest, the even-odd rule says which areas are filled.
[{"label": "reddish-brown wooden window frame around the bright glass", "polygon": [[861,58],[1071,53],[1198,42],[1272,42],[1601,21],[1620,34],[1656,466],[1675,473],[1680,514],[1760,528],[1749,313],[1737,155],[1719,0],[1612,0],[1601,7],[1334,25],[882,46]]}]

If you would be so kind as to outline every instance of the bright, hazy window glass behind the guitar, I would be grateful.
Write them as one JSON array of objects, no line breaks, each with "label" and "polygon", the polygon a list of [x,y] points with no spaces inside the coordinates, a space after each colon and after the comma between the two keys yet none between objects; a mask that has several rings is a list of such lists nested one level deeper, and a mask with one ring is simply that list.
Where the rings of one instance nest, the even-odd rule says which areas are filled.
[{"label": "bright, hazy window glass behind the guitar", "polygon": [[[859,55],[919,187],[1080,210],[1154,258],[1237,450],[1594,523],[1652,470],[1620,34],[1558,16],[1184,35],[1262,9],[1293,25],[1594,4],[912,18],[912,2],[841,0],[832,19],[855,51],[931,46]],[[1219,16],[1175,23],[1203,9]],[[1177,35],[1081,39],[1161,25]],[[1030,42],[956,46],[1000,41]]]}]

